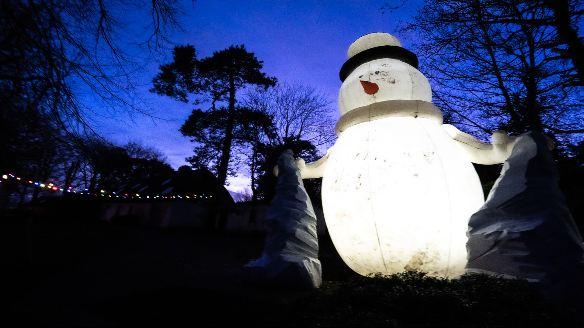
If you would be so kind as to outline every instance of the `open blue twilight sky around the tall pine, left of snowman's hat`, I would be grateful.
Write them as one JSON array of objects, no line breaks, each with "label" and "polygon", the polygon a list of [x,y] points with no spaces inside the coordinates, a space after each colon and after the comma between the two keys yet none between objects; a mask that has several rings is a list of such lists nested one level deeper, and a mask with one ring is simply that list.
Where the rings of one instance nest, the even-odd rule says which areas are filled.
[{"label": "open blue twilight sky around the tall pine, left of snowman's hat", "polygon": [[[346,60],[347,48],[360,36],[371,32],[394,32],[399,20],[407,20],[416,2],[391,13],[381,11],[387,1],[185,1],[185,33],[171,37],[175,44],[192,44],[198,57],[213,55],[231,45],[245,44],[264,62],[263,72],[279,81],[303,81],[325,92],[338,117],[339,69]],[[390,1],[399,5],[402,1]],[[409,40],[398,39],[408,48]],[[171,51],[166,60],[172,58]],[[114,142],[138,141],[154,146],[168,156],[173,168],[187,165],[193,144],[178,131],[194,106],[148,92],[158,65],[152,63],[141,75],[138,92],[145,103],[141,109],[155,117],[134,115],[117,119],[98,118],[96,130]],[[194,97],[192,98],[194,99]],[[192,100],[190,99],[190,100]],[[150,107],[150,108],[149,108]],[[199,106],[204,109],[204,105]],[[231,178],[228,189],[244,189],[245,173]]]}]

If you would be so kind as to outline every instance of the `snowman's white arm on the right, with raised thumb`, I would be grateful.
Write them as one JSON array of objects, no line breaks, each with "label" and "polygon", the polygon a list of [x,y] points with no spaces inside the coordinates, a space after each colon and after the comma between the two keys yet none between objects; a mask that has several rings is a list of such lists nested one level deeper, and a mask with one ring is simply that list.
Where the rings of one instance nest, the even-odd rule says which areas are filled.
[{"label": "snowman's white arm on the right, with raised thumb", "polygon": [[442,124],[444,131],[450,135],[467,153],[471,162],[477,164],[499,164],[505,162],[515,145],[515,138],[504,130],[497,130],[492,135],[492,144],[479,141],[468,133],[458,130],[450,124]]}]

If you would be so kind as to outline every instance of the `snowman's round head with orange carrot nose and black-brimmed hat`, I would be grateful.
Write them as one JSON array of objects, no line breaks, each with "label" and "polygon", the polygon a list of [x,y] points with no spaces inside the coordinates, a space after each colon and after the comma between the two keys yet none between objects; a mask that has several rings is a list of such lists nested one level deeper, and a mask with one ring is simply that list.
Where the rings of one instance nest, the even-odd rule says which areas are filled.
[{"label": "snowman's round head with orange carrot nose and black-brimmed hat", "polygon": [[386,100],[432,102],[432,89],[418,71],[418,57],[388,33],[366,34],[349,47],[340,69],[341,114]]}]

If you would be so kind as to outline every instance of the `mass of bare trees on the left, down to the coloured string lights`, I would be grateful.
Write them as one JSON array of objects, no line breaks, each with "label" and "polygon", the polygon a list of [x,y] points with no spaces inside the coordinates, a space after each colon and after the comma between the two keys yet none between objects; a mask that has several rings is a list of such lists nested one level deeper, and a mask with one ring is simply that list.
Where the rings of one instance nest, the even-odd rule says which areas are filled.
[{"label": "mass of bare trees on the left, down to the coloured string lights", "polygon": [[[0,175],[95,191],[169,169],[158,151],[114,145],[89,122],[139,111],[127,100],[137,72],[181,14],[175,1],[0,2]],[[0,208],[46,192],[6,180]]]}]

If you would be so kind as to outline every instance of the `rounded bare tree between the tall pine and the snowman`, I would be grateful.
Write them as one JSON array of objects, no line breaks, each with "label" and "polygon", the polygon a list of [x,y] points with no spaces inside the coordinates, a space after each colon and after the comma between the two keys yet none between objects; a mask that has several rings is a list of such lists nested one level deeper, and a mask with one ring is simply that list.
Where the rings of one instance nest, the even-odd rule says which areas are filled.
[{"label": "rounded bare tree between the tall pine and the snowman", "polygon": [[[253,200],[272,199],[277,179],[272,169],[281,152],[290,148],[294,156],[307,162],[318,159],[317,147],[331,146],[336,139],[335,123],[331,118],[331,100],[314,86],[302,82],[279,83],[269,90],[252,90],[246,94],[246,106],[264,111],[274,117],[275,134],[258,136],[249,156]],[[311,196],[319,194],[320,179],[305,180]],[[258,192],[256,192],[256,189]]]}]

